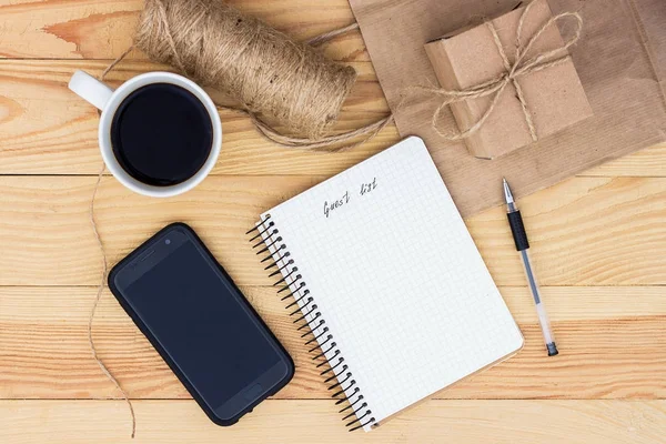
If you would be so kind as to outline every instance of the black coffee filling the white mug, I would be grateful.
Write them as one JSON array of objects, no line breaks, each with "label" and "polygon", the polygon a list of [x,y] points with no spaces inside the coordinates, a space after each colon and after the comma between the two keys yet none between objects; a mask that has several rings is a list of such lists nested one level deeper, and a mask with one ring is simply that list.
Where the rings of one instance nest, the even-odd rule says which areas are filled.
[{"label": "black coffee filling the white mug", "polygon": [[170,83],[138,89],[120,104],[111,123],[113,153],[123,170],[149,185],[175,185],[203,167],[213,125],[201,101]]}]

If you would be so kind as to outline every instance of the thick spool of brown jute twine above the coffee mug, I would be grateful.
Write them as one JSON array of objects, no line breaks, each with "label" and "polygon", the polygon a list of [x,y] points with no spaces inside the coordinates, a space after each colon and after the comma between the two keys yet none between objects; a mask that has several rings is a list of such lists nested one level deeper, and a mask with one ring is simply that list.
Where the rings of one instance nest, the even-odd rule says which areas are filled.
[{"label": "thick spool of brown jute twine above the coffee mug", "polygon": [[320,139],[356,72],[221,0],[147,0],[135,47],[291,135]]}]

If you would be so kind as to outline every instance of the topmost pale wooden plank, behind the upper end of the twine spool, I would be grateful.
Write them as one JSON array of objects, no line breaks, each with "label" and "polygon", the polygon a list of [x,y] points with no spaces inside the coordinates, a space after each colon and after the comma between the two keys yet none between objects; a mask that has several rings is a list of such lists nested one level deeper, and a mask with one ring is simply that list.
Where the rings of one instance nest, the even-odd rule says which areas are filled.
[{"label": "topmost pale wooden plank, behind the upper end of the twine spool", "polygon": [[[354,22],[346,0],[228,0],[296,40]],[[0,4],[0,57],[113,59],[132,44],[142,0],[14,0]],[[361,33],[351,32],[325,48],[337,60],[370,60]],[[145,58],[144,56],[138,56]]]}]

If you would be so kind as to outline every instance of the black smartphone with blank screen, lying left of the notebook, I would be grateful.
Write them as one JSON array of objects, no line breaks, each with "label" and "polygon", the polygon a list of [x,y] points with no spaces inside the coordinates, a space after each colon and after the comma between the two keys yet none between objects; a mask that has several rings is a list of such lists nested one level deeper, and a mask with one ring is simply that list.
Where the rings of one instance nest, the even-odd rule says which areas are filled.
[{"label": "black smartphone with blank screen, lying left of the notebook", "polygon": [[109,287],[218,425],[234,424],[294,374],[287,352],[184,223],[118,263]]}]

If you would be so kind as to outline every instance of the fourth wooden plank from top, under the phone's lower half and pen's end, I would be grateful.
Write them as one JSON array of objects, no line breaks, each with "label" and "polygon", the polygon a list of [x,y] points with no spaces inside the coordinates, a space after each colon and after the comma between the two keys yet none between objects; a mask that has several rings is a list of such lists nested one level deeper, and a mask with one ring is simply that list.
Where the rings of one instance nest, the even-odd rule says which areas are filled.
[{"label": "fourth wooden plank from top, under the phone's lower half and pen's end", "polygon": [[[330,395],[272,287],[243,292],[294,357],[296,374],[278,398]],[[444,398],[666,396],[664,287],[545,287],[561,350],[546,356],[525,287],[502,287],[526,345],[517,356],[443,391]],[[0,287],[0,398],[117,396],[88,345],[94,287]],[[186,398],[185,390],[113,296],[93,324],[99,354],[134,398]]]}]

